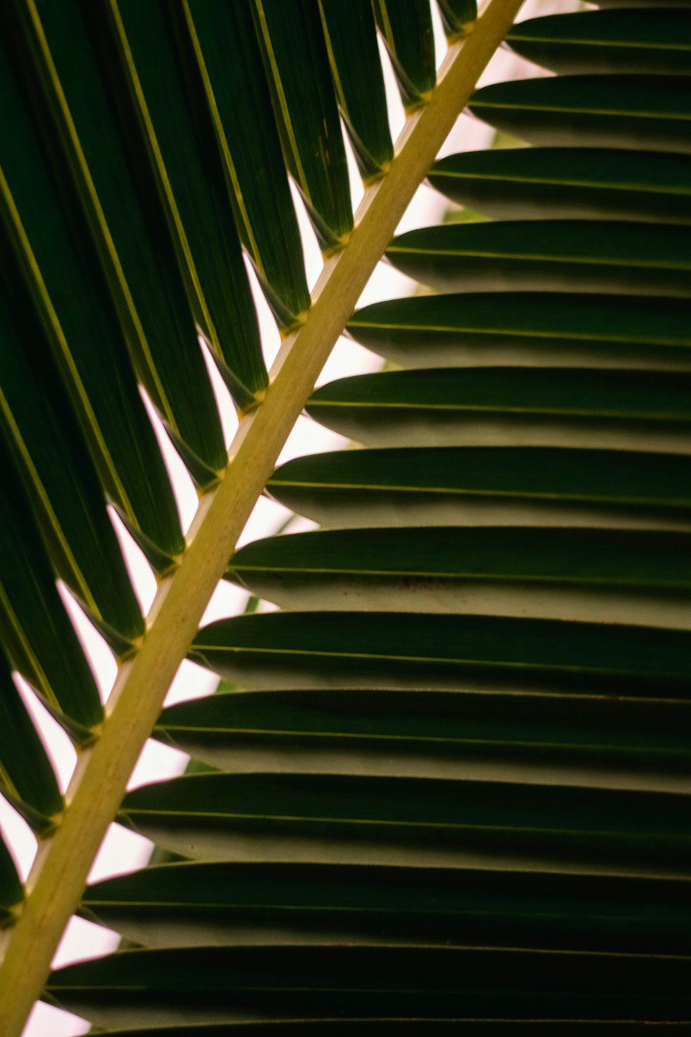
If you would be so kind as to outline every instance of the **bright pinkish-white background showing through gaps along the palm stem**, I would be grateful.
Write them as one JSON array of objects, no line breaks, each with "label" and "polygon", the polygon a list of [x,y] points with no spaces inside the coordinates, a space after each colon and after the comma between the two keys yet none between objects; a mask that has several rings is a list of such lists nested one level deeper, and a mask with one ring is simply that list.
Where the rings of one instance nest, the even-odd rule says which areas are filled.
[{"label": "bright pinkish-white background showing through gaps along the palm stem", "polygon": [[[438,65],[445,53],[445,40],[436,6],[435,4],[431,6],[434,19]],[[573,10],[577,6],[578,3],[576,0],[558,0],[558,3],[552,0],[552,2],[549,2],[548,9],[550,12],[553,12],[558,7],[559,10],[566,11]],[[521,19],[534,17],[540,12],[541,7],[545,10],[544,0],[528,0],[521,12]],[[392,134],[394,140],[396,140],[403,127],[403,109],[388,58],[381,44],[380,50],[384,68]],[[520,61],[520,59],[510,55],[506,51],[500,51],[495,55],[489,69],[481,79],[481,85],[517,76],[535,76],[537,74],[539,73],[535,66]],[[439,157],[461,150],[476,150],[487,147],[491,137],[492,133],[489,128],[470,117],[461,116],[441,148]],[[350,167],[353,212],[355,212],[363,195],[363,188],[347,139],[346,151]],[[303,202],[294,189],[293,197],[296,203],[300,233],[303,235],[308,282],[310,288],[312,288],[321,271],[321,255]],[[421,187],[399,224],[397,232],[401,233],[405,230],[430,226],[438,222],[448,204],[440,195],[433,192],[430,188]],[[270,366],[280,344],[279,333],[249,263],[248,270],[259,315],[264,355],[267,366]],[[413,281],[399,274],[386,263],[380,262],[363,292],[358,305],[364,306],[380,300],[409,295],[414,288],[415,283]],[[226,442],[230,444],[237,427],[237,418],[232,401],[217,372],[213,362],[208,355],[206,355],[206,359],[219,401]],[[381,359],[379,357],[342,337],[339,339],[330,358],[326,362],[317,381],[317,385],[323,385],[326,382],[350,374],[374,371],[380,366]],[[145,402],[156,429],[159,443],[166,464],[171,473],[182,526],[186,529],[197,506],[197,495],[192,480],[164,432],[161,422],[153,413],[148,400],[145,399]],[[306,453],[320,453],[325,450],[339,449],[346,444],[347,440],[343,437],[322,428],[307,417],[300,417],[297,419],[293,431],[281,452],[279,461],[283,463],[291,457],[297,457]],[[291,514],[292,512],[281,505],[275,504],[265,498],[260,498],[240,537],[239,543],[241,544],[249,540],[269,535],[279,529]],[[116,527],[137,594],[146,613],[151,605],[156,588],[153,573],[144,556],[124,531],[117,517],[114,514],[111,517]],[[298,530],[313,527],[314,523],[311,523],[309,520],[295,517],[291,523],[290,531],[297,532]],[[60,586],[60,592],[73,617],[87,655],[92,663],[102,691],[102,697],[105,700],[108,697],[116,673],[113,656],[99,635],[85,619],[69,592],[62,586]],[[209,601],[202,624],[224,616],[241,613],[247,599],[247,592],[223,582]],[[267,611],[272,608],[268,604],[262,604],[260,611]],[[76,761],[76,754],[71,744],[59,725],[37,701],[31,689],[21,677],[17,677],[16,679],[27,708],[34,718],[36,726],[54,760],[59,782],[64,790],[69,782]],[[182,699],[207,695],[213,691],[217,683],[218,677],[215,674],[185,661],[181,664],[177,676],[171,685],[166,704],[170,705]],[[128,787],[133,788],[149,781],[180,774],[184,769],[186,761],[188,757],[185,754],[176,752],[159,742],[148,741],[132,775]],[[35,853],[36,842],[28,825],[1,796],[0,825],[12,847],[20,873],[23,877],[26,877]],[[112,824],[91,869],[89,875],[90,881],[143,866],[149,859],[151,848],[152,844],[147,839],[127,832],[117,824]],[[116,947],[117,943],[118,937],[115,933],[98,928],[81,919],[73,919],[56,952],[53,964],[67,964],[80,958],[93,957],[107,953]],[[78,1019],[77,1016],[59,1012],[48,1005],[39,1003],[35,1006],[29,1018],[23,1037],[71,1037],[75,1034],[85,1033],[88,1029],[89,1025],[82,1019]]]}]

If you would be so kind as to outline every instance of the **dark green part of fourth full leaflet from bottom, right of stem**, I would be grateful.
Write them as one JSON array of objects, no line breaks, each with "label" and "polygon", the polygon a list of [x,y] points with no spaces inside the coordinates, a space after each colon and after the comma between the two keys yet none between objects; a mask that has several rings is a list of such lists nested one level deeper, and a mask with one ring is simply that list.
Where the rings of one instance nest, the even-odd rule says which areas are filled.
[{"label": "dark green part of fourth full leaflet from bottom, right of stem", "polygon": [[[334,685],[312,691],[223,692],[169,706],[161,714],[156,734],[170,737],[185,752],[195,753],[228,770],[240,770],[233,745],[250,736],[330,736],[335,749],[343,750],[352,737],[380,740],[393,751],[398,739],[418,741],[432,751],[433,742],[456,742],[468,749],[473,744],[506,744],[525,751],[546,751],[549,746],[569,752],[605,751],[627,755],[670,754],[678,762],[688,759],[691,703],[670,699],[624,696],[581,697],[484,695],[462,688],[451,692],[420,689],[368,688],[365,691]],[[228,748],[225,761],[220,753]],[[279,759],[277,769],[290,766],[290,757]],[[366,769],[366,767],[364,768]],[[565,774],[568,767],[565,767]],[[583,783],[584,784],[584,783]]]}]

